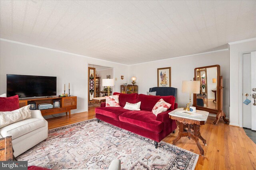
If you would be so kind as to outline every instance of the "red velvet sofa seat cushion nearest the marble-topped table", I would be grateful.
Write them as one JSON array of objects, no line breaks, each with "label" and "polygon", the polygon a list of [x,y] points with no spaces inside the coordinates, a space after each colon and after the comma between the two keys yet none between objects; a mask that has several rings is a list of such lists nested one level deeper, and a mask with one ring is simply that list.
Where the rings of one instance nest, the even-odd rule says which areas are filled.
[{"label": "red velvet sofa seat cushion nearest the marble-topped table", "polygon": [[130,123],[144,129],[159,133],[163,130],[163,123],[156,120],[156,116],[151,111],[128,111],[119,115],[119,120]]}]

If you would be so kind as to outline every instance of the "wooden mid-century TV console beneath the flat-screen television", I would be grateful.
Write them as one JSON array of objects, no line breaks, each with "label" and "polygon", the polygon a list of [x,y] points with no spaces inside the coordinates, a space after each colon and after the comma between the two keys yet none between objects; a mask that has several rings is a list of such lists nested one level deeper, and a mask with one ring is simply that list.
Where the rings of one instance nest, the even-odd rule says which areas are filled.
[{"label": "wooden mid-century TV console beneath the flat-screen television", "polygon": [[69,96],[69,97],[53,97],[53,98],[26,98],[26,99],[20,99],[19,104],[20,107],[27,106],[28,103],[31,102],[36,102],[36,106],[38,104],[43,104],[43,103],[50,103],[53,104],[54,100],[60,100],[60,107],[52,108],[52,109],[44,109],[40,110],[43,116],[46,115],[53,115],[57,113],[64,113],[66,112],[66,115],[69,114],[69,117],[71,117],[70,111],[72,109],[76,109],[76,96]]}]

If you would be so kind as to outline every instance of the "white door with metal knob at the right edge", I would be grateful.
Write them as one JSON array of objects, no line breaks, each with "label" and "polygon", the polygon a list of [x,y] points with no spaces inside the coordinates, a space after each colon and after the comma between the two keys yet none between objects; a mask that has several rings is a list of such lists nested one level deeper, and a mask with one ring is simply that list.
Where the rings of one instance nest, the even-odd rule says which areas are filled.
[{"label": "white door with metal knob at the right edge", "polygon": [[[256,105],[254,105],[253,89],[256,88],[256,52],[243,55],[243,100],[247,98],[250,104],[243,104],[243,127],[256,130]],[[256,99],[255,99],[256,100]],[[256,101],[255,101],[256,102]]]}]

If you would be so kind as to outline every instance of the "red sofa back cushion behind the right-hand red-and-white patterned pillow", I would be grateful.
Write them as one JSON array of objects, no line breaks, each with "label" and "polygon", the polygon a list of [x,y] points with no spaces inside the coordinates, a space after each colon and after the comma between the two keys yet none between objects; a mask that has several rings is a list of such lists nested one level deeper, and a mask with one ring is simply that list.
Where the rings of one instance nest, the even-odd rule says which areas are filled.
[{"label": "red sofa back cushion behind the right-hand red-and-white patterned pillow", "polygon": [[149,96],[145,94],[139,94],[138,102],[141,102],[140,109],[146,111],[152,111],[158,100],[163,99],[165,102],[171,104],[171,110],[174,109],[175,97],[174,96]]}]

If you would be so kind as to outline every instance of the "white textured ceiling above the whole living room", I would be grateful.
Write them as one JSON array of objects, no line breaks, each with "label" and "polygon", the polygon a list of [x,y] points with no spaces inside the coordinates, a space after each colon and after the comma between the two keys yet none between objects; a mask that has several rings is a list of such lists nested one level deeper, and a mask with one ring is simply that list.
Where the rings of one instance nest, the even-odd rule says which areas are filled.
[{"label": "white textured ceiling above the whole living room", "polygon": [[256,37],[256,1],[0,1],[0,37],[124,64]]}]

